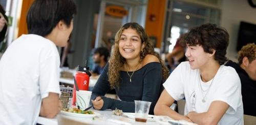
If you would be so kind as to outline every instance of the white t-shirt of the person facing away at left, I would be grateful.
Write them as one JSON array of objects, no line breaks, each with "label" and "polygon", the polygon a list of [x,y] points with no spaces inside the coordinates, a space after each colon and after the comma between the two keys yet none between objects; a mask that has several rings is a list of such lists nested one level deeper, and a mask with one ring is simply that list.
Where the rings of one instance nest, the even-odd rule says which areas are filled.
[{"label": "white t-shirt of the person facing away at left", "polygon": [[59,93],[60,59],[55,44],[22,35],[0,60],[0,124],[36,124],[41,101]]}]

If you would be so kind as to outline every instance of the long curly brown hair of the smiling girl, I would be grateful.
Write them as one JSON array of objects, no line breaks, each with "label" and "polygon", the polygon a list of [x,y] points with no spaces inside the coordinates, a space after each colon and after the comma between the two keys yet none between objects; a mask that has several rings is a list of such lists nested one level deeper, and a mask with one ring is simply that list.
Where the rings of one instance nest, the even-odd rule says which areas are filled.
[{"label": "long curly brown hair of the smiling girl", "polygon": [[164,62],[160,58],[159,54],[154,51],[154,47],[151,45],[150,38],[147,36],[145,29],[136,22],[130,22],[130,23],[124,24],[118,30],[115,36],[114,50],[109,60],[108,76],[109,76],[110,86],[111,87],[119,86],[120,69],[126,63],[126,60],[124,57],[121,56],[119,52],[118,44],[119,44],[120,37],[123,30],[128,28],[135,29],[137,34],[140,36],[141,42],[144,43],[145,45],[143,50],[140,52],[140,56],[141,56],[140,61],[142,61],[147,54],[155,55],[161,63],[163,79],[166,80],[169,76],[169,70],[167,69],[167,67],[165,67]]}]

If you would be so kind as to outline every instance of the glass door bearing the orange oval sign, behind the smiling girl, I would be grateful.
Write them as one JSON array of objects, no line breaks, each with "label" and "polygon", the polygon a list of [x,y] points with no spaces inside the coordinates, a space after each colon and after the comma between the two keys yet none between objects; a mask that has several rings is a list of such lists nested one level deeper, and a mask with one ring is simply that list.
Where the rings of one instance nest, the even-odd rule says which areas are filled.
[{"label": "glass door bearing the orange oval sign, behind the smiling girl", "polygon": [[103,46],[111,50],[116,33],[127,22],[137,22],[144,26],[146,2],[144,0],[101,1],[94,47]]}]

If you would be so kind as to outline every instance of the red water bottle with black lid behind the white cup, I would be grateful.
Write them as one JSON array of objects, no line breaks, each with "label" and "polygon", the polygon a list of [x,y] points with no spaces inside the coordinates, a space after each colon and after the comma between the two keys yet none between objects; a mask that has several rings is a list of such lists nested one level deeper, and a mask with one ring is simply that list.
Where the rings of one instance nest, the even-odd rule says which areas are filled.
[{"label": "red water bottle with black lid behind the white cup", "polygon": [[[90,81],[91,73],[89,72],[89,67],[87,66],[78,66],[77,72],[75,74],[75,79],[77,82],[77,86],[79,90],[88,90],[89,88],[89,81]],[[72,98],[72,105],[76,105],[76,87],[74,84],[73,89],[73,98]]]}]

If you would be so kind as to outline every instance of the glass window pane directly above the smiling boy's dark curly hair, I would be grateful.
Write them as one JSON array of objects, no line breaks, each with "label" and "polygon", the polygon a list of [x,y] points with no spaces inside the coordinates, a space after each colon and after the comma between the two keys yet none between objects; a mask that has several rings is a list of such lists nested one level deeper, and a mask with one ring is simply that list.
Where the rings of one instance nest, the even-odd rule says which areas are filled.
[{"label": "glass window pane directly above the smiling boy's dark curly hair", "polygon": [[180,35],[187,33],[191,27],[210,22],[220,22],[220,10],[198,4],[168,1],[167,18],[165,22],[165,34],[163,53],[172,52]]}]

